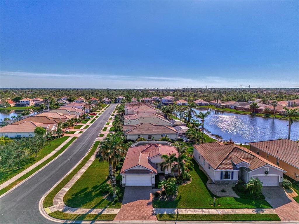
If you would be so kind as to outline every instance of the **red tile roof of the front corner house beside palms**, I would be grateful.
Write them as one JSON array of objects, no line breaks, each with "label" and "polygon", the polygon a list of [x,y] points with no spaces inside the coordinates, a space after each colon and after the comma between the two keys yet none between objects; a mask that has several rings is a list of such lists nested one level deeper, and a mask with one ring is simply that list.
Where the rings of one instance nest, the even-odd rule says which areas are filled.
[{"label": "red tile roof of the front corner house beside palms", "polygon": [[[160,144],[147,144],[130,147],[126,154],[120,173],[157,174],[156,164],[151,162],[150,158],[164,154],[176,154],[177,156],[177,150],[175,147]],[[137,165],[140,165],[149,170],[128,170]]]}]

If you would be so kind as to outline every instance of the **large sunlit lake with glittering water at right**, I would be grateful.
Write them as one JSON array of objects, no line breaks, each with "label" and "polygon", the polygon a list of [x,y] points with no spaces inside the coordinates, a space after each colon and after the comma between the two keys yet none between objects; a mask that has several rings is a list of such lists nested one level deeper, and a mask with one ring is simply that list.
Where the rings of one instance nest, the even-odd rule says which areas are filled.
[{"label": "large sunlit lake with glittering water at right", "polygon": [[[207,109],[196,109],[206,112]],[[210,109],[211,114],[204,123],[211,134],[222,136],[223,140],[233,139],[235,143],[265,141],[288,137],[289,120],[251,116]],[[194,118],[196,119],[196,118]],[[291,139],[299,139],[299,122],[291,126]]]}]

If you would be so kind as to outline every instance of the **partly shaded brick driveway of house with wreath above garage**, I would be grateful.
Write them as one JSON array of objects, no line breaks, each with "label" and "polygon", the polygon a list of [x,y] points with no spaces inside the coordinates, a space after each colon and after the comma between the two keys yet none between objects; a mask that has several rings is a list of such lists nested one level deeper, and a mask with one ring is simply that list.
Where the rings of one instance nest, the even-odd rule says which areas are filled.
[{"label": "partly shaded brick driveway of house with wreath above garage", "polygon": [[281,187],[263,187],[263,195],[281,220],[299,220],[299,204]]}]

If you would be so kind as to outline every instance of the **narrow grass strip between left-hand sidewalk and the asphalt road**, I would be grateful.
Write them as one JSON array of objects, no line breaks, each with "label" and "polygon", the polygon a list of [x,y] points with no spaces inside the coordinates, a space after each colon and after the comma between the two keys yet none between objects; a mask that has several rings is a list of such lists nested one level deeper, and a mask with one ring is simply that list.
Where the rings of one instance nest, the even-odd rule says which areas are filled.
[{"label": "narrow grass strip between left-hand sidewalk and the asphalt road", "polygon": [[50,158],[48,158],[46,161],[42,162],[37,167],[35,167],[31,171],[29,171],[28,173],[24,174],[22,177],[20,177],[19,179],[17,179],[15,182],[13,182],[10,185],[8,185],[6,188],[1,189],[0,195],[4,194],[6,191],[8,191],[11,188],[13,188],[14,186],[16,186],[19,182],[21,182],[22,180],[25,180],[27,177],[30,177],[32,174],[34,174],[40,168],[42,168],[43,166],[45,166],[46,164],[48,164],[49,162],[51,162],[54,158],[56,158],[58,155],[60,155],[66,148],[68,148],[68,146],[71,145],[71,143],[74,142],[75,139],[77,139],[77,137],[73,137],[68,143],[66,143],[60,150],[58,150],[53,156],[51,156]]}]

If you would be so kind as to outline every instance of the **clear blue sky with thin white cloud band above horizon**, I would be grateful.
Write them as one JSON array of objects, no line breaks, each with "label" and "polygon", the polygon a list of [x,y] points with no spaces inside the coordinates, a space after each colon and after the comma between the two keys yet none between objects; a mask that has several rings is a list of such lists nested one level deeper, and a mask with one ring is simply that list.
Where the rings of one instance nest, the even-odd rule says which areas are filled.
[{"label": "clear blue sky with thin white cloud band above horizon", "polygon": [[1,1],[0,87],[299,87],[299,1]]}]

